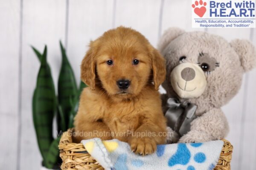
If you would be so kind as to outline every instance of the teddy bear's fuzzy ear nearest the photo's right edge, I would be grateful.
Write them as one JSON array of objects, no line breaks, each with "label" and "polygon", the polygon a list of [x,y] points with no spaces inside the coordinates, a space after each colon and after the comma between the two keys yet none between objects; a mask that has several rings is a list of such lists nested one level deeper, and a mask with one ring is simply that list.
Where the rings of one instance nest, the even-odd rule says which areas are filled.
[{"label": "teddy bear's fuzzy ear nearest the photo's right edge", "polygon": [[256,66],[256,51],[250,41],[236,39],[231,41],[230,45],[239,55],[244,71],[250,71]]}]

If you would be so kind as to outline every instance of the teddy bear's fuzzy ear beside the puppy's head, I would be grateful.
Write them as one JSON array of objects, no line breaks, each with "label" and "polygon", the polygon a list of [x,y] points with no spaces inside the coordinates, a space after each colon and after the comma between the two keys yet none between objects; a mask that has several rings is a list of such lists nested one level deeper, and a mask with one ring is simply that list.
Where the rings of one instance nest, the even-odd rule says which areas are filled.
[{"label": "teddy bear's fuzzy ear beside the puppy's head", "polygon": [[162,52],[164,48],[166,48],[166,46],[172,40],[174,40],[176,37],[180,36],[184,32],[185,31],[180,28],[176,28],[176,27],[168,28],[166,31],[164,31],[162,37],[160,37],[160,40],[157,45],[158,50]]}]

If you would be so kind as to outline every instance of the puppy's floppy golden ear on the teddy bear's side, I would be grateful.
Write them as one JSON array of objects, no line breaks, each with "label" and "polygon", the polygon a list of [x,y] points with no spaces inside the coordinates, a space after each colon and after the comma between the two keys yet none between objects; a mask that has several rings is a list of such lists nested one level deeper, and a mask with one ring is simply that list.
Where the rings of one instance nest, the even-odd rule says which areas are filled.
[{"label": "puppy's floppy golden ear on the teddy bear's side", "polygon": [[166,64],[165,59],[156,49],[151,53],[151,67],[153,71],[153,81],[155,89],[158,90],[159,86],[166,77]]}]

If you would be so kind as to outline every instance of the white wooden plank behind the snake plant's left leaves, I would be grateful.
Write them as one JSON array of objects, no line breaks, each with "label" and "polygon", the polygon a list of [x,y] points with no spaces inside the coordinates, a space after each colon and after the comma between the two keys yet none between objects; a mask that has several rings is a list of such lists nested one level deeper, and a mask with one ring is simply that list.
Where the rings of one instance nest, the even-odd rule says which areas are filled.
[{"label": "white wooden plank behind the snake plant's left leaves", "polygon": [[22,108],[21,108],[21,153],[20,169],[38,170],[41,155],[32,122],[32,94],[36,84],[39,62],[30,45],[40,51],[48,45],[47,59],[52,68],[55,87],[61,65],[59,40],[65,35],[66,1],[23,0],[22,40]]}]

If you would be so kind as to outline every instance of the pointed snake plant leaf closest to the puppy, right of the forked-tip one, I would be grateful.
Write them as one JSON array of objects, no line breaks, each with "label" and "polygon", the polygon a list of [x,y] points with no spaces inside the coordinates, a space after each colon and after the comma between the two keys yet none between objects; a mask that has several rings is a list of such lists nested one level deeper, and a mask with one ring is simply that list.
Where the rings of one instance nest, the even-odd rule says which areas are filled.
[{"label": "pointed snake plant leaf closest to the puppy, right of the forked-tip one", "polygon": [[70,62],[67,59],[66,51],[60,41],[61,54],[62,54],[62,63],[61,71],[58,78],[58,102],[61,105],[65,124],[68,125],[70,111],[72,109],[72,103],[70,99],[74,101],[78,94],[76,79],[71,68]]}]

